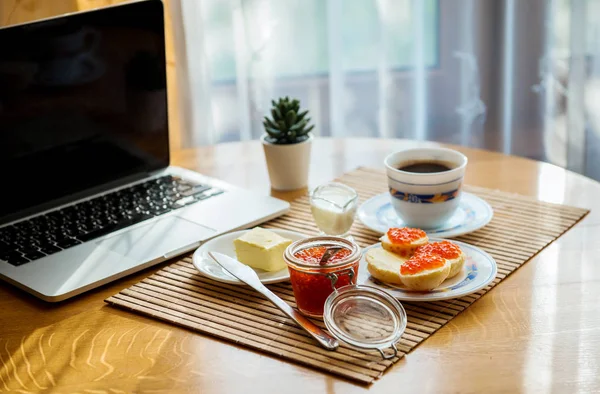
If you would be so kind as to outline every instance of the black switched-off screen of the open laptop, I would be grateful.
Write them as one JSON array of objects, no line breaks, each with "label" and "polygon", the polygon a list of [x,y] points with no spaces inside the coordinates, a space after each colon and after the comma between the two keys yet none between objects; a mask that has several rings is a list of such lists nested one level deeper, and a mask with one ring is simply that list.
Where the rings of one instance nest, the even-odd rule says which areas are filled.
[{"label": "black switched-off screen of the open laptop", "polygon": [[0,218],[169,163],[159,0],[0,29]]}]

